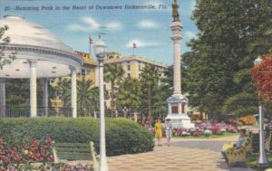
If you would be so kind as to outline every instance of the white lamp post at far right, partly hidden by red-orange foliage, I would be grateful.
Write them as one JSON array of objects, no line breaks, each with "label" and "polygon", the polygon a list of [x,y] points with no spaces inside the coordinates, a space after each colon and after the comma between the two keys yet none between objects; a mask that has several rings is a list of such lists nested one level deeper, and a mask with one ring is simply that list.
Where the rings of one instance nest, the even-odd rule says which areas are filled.
[{"label": "white lamp post at far right, partly hidden by red-orange foliage", "polygon": [[[254,65],[258,65],[262,62],[262,59],[258,57],[254,61]],[[258,115],[259,115],[259,157],[257,161],[257,166],[269,166],[265,144],[264,144],[264,116],[262,112],[262,105],[261,105],[261,97],[257,93],[258,96]]]}]

